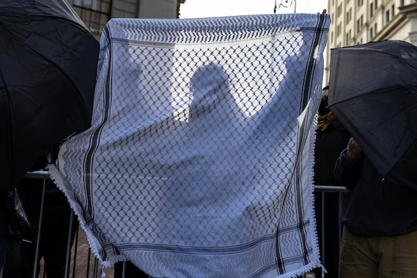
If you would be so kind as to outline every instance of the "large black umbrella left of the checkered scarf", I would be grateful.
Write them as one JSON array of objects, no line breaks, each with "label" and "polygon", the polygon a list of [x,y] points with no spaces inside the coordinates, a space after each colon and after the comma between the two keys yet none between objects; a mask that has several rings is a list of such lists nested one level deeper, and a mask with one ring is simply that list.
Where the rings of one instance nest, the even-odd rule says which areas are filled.
[{"label": "large black umbrella left of the checkered scarf", "polygon": [[98,53],[67,1],[0,1],[0,189],[90,126]]}]

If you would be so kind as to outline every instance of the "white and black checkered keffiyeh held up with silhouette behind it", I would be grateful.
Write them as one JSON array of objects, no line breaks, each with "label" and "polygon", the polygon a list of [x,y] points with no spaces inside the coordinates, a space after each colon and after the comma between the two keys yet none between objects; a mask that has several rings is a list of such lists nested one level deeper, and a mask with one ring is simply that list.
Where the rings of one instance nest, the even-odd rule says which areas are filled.
[{"label": "white and black checkered keffiyeh held up with silhouette behind it", "polygon": [[328,15],[111,19],[92,126],[51,176],[104,266],[295,277],[320,266],[313,138]]}]

